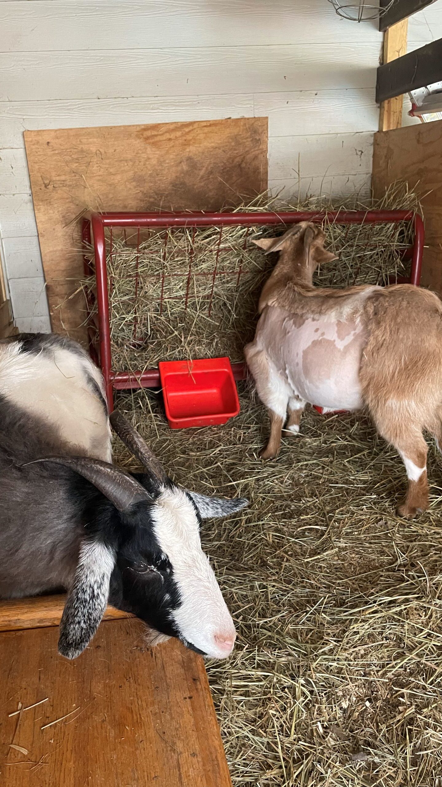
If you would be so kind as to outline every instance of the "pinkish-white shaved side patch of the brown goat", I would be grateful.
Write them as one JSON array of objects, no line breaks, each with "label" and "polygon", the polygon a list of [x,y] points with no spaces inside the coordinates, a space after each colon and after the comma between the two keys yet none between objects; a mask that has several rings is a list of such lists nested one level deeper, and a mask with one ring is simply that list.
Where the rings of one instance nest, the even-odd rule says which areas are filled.
[{"label": "pinkish-white shaved side patch of the brown goat", "polygon": [[367,331],[351,316],[305,316],[270,307],[263,312],[255,343],[260,345],[293,396],[324,408],[363,406],[359,368]]}]

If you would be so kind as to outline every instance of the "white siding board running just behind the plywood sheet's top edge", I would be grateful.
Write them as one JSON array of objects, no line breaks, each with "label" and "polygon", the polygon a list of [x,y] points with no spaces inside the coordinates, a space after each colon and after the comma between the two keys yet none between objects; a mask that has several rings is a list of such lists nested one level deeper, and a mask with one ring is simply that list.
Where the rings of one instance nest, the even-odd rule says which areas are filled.
[{"label": "white siding board running just behind the plywood sheet's top edge", "polygon": [[[375,72],[373,71],[373,75]],[[271,136],[358,133],[378,130],[374,88],[346,91],[194,96],[193,98],[103,98],[95,101],[0,103],[0,148],[20,148],[24,129],[113,126],[270,116]],[[0,184],[0,194],[2,187]],[[0,216],[2,213],[0,212]],[[17,235],[17,233],[16,233]]]}]

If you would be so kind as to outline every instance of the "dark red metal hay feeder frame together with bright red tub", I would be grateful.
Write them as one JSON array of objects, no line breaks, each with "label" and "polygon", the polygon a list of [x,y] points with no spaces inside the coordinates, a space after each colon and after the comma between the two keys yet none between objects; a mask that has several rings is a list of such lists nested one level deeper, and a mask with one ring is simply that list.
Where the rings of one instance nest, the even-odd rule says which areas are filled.
[{"label": "dark red metal hay feeder frame together with bright red tub", "polygon": [[[218,252],[215,254],[214,260],[214,268],[212,272],[209,272],[208,275],[212,277],[212,292],[210,295],[210,299],[208,301],[208,312],[210,313],[210,309],[212,308],[212,297],[214,294],[215,289],[215,279],[219,275],[229,275],[226,272],[221,272],[218,270],[218,257],[219,257],[219,249],[221,244],[221,238],[223,234],[223,227],[227,226],[240,226],[240,227],[253,227],[253,226],[265,226],[269,225],[274,227],[274,225],[281,225],[282,230],[284,226],[287,224],[297,224],[300,221],[313,221],[317,224],[321,224],[322,221],[327,219],[329,222],[334,222],[336,224],[395,224],[402,221],[411,222],[414,225],[414,242],[411,247],[405,247],[403,249],[403,258],[410,259],[411,258],[411,276],[410,279],[400,279],[398,277],[398,282],[409,282],[418,286],[420,279],[421,279],[421,268],[422,268],[422,251],[424,246],[424,226],[422,222],[421,216],[418,216],[417,213],[414,213],[409,210],[373,210],[373,211],[323,211],[323,212],[298,212],[298,211],[283,211],[283,212],[242,212],[242,213],[233,213],[233,212],[223,212],[223,213],[204,213],[204,212],[186,212],[186,213],[93,213],[89,219],[83,220],[83,241],[88,245],[91,244],[93,238],[93,245],[94,245],[94,260],[95,260],[95,275],[97,280],[97,307],[98,307],[98,343],[96,342],[96,337],[90,331],[90,352],[98,361],[101,366],[101,370],[103,372],[103,376],[105,379],[105,392],[106,397],[109,403],[109,411],[112,411],[113,408],[113,391],[114,390],[127,390],[131,388],[159,388],[161,386],[161,379],[160,379],[160,371],[157,368],[148,369],[146,371],[135,371],[135,372],[128,372],[128,371],[121,371],[115,368],[112,368],[112,345],[111,345],[111,337],[110,337],[110,326],[109,326],[109,289],[108,289],[108,273],[107,273],[107,266],[106,266],[106,238],[105,238],[105,228],[109,228],[109,247],[108,253],[112,255],[112,228],[113,227],[126,227],[127,229],[131,229],[131,231],[138,231],[138,246],[137,246],[137,253],[139,251],[139,232],[141,229],[145,228],[159,228],[163,227],[165,229],[170,229],[172,227],[219,227],[219,244],[218,244]],[[91,274],[89,260],[87,256],[84,258],[85,261],[85,271],[87,275]],[[189,260],[189,267],[187,270],[182,272],[182,278],[187,280],[187,293],[189,290],[190,284],[190,276],[192,272],[192,255],[190,255]],[[159,272],[159,275],[162,275]],[[233,274],[237,277],[237,286],[239,283],[239,276],[241,275],[240,272],[235,272]],[[163,274],[164,280],[164,274]],[[187,297],[187,296],[186,296]],[[162,309],[163,305],[163,290],[161,290],[161,299],[160,299],[160,309]],[[222,359],[212,359],[212,360],[219,360]],[[227,359],[228,360],[228,359]],[[193,364],[193,368],[196,368],[194,364],[199,364],[201,361],[192,361],[192,362],[183,362],[188,368],[188,363]],[[210,360],[207,359],[204,363],[209,364]],[[167,368],[168,364],[161,364],[160,368]],[[229,363],[230,367],[230,363]],[[245,363],[241,364],[232,364],[231,372],[233,375],[234,380],[241,380],[245,379],[247,376],[247,369],[245,367]],[[206,373],[212,373],[209,371]],[[164,374],[166,372],[164,371]],[[171,374],[168,371],[168,375]],[[183,425],[195,425],[194,423],[186,424],[186,420],[198,420],[198,425],[201,419],[204,418],[215,418],[215,417],[223,417],[223,421],[210,421],[210,423],[225,423],[225,421],[230,418],[231,416],[236,414],[236,401],[238,401],[238,394],[236,393],[236,386],[234,386],[234,395],[237,397],[234,401],[233,390],[230,389],[230,393],[227,395],[225,394],[225,386],[221,385],[219,387],[219,391],[223,390],[223,393],[217,393],[218,396],[218,405],[219,409],[221,408],[220,401],[225,395],[225,401],[223,401],[223,408],[224,412],[212,412],[209,414],[207,412],[206,404],[208,401],[208,394],[204,393],[202,395],[198,394],[197,399],[195,399],[195,411],[190,408],[190,398],[191,398],[191,388],[188,385],[188,380],[186,382],[185,389],[182,390],[182,393],[175,389],[176,380],[172,382],[172,377],[170,378],[170,390],[164,396],[165,406],[166,406],[166,413],[168,415],[169,423],[171,425],[175,422],[178,423],[180,419],[183,419],[179,426]],[[164,382],[164,381],[163,381]],[[166,386],[169,385],[169,382],[166,382]],[[182,379],[184,382],[184,379]],[[210,381],[208,381],[210,382]],[[213,381],[212,381],[213,382]],[[204,384],[203,390],[204,390]],[[206,392],[209,390],[210,385],[206,386]],[[195,393],[195,392],[193,392]],[[212,396],[212,404],[215,404],[215,393]],[[179,404],[179,398],[181,397],[181,404]],[[186,403],[185,403],[186,402]],[[199,412],[197,412],[197,402],[199,402],[199,407],[201,408]],[[217,405],[217,406],[218,406]],[[174,407],[177,407],[177,410],[174,410]],[[215,408],[216,409],[216,408]],[[322,408],[319,409],[319,412],[322,412]],[[238,407],[239,412],[239,407]],[[227,417],[226,417],[227,416]],[[207,423],[204,422],[204,423]],[[178,428],[177,426],[173,426],[172,428]]]}]

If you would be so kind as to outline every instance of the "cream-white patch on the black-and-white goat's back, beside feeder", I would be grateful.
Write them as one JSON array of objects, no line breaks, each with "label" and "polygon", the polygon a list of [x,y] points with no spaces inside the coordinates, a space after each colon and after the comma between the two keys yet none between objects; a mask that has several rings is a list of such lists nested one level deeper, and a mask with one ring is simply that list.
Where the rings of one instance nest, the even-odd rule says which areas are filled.
[{"label": "cream-white patch on the black-and-white goat's back, beside feeder", "polygon": [[109,419],[87,380],[90,375],[103,392],[100,370],[68,348],[35,354],[21,353],[20,347],[12,342],[0,348],[0,393],[57,428],[63,442],[111,462]]}]

